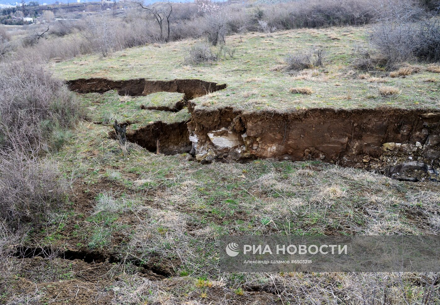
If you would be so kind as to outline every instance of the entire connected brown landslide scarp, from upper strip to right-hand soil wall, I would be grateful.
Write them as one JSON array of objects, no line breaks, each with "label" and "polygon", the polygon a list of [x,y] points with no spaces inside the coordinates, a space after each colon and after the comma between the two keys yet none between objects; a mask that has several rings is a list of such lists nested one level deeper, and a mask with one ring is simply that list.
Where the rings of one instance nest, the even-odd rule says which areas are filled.
[{"label": "entire connected brown landslide scarp, from upper strip to right-hand soil wall", "polygon": [[189,152],[202,163],[258,158],[322,160],[380,171],[401,180],[439,180],[440,112],[435,109],[195,109],[192,98],[226,85],[144,79],[80,79],[67,84],[80,93],[102,93],[110,88],[130,95],[184,93],[190,120],[170,124],[158,121],[128,129],[128,141],[151,152]]}]

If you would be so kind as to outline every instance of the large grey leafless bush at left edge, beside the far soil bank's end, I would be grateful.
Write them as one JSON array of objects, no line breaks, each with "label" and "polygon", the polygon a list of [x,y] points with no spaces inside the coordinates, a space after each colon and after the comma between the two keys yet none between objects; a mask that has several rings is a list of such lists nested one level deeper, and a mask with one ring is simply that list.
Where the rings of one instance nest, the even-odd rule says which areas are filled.
[{"label": "large grey leafless bush at left edge, beside the far soil bank's end", "polygon": [[56,148],[81,115],[79,102],[60,80],[30,62],[0,65],[0,149]]}]

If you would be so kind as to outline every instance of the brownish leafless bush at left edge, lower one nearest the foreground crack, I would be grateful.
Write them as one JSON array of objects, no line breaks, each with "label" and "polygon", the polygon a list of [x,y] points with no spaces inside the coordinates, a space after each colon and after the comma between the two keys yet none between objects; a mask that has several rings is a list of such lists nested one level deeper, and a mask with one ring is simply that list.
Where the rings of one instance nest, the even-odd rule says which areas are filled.
[{"label": "brownish leafless bush at left edge, lower one nearest the foreground crack", "polygon": [[38,224],[66,200],[66,183],[56,164],[19,150],[0,156],[0,216],[7,223]]}]

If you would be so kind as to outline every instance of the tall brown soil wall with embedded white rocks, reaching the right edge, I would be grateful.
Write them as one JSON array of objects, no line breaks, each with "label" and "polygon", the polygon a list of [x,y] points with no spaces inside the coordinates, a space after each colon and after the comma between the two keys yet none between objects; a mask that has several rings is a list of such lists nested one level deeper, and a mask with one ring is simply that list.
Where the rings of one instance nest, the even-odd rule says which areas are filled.
[{"label": "tall brown soil wall with embedded white rocks, reaching the right edge", "polygon": [[188,123],[197,160],[311,160],[383,169],[414,160],[438,168],[440,112],[307,109],[242,113],[195,109]]}]

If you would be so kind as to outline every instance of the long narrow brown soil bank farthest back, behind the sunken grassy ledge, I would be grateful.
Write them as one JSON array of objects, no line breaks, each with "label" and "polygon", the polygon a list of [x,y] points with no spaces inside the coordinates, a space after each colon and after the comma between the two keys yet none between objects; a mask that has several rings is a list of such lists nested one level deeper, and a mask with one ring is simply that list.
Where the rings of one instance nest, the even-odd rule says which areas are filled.
[{"label": "long narrow brown soil bank farthest back, behind the sunken grassy ledge", "polygon": [[78,93],[104,93],[115,90],[120,95],[139,96],[155,92],[179,92],[190,100],[210,92],[226,88],[226,84],[217,84],[205,80],[108,80],[105,78],[80,78],[66,81],[71,91]]}]

